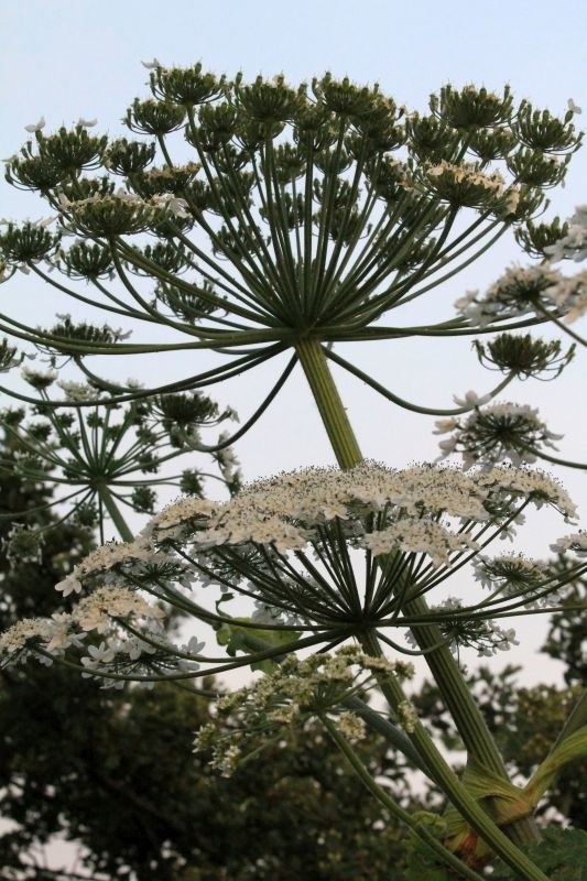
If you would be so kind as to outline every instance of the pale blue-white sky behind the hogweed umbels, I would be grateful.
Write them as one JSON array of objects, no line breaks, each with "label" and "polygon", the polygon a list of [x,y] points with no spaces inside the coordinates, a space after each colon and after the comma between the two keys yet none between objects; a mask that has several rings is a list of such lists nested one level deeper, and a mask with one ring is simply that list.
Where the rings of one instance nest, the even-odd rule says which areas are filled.
[{"label": "pale blue-white sky behind the hogweed umbels", "polygon": [[[97,117],[97,130],[123,134],[120,120],[138,96],[145,96],[148,73],[140,61],[156,56],[165,65],[202,61],[206,68],[246,78],[283,72],[292,83],[325,70],[358,83],[379,81],[398,104],[424,110],[432,91],[447,81],[499,90],[510,83],[518,98],[554,112],[573,98],[587,119],[585,34],[587,4],[566,0],[512,0],[493,4],[475,0],[443,3],[411,0],[20,0],[0,6],[0,89],[2,126],[0,156],[14,153],[25,140],[24,126],[42,115],[47,131],[79,117]],[[587,202],[587,151],[574,159],[567,186],[553,194],[554,210],[568,216]],[[34,197],[0,183],[0,216],[37,218],[46,214]],[[512,242],[501,243],[450,289],[438,293],[450,304],[467,287],[483,287],[512,261],[526,261]],[[569,268],[570,269],[570,268]],[[1,289],[2,304],[19,305],[35,316],[53,306],[52,297],[32,279]],[[44,305],[45,304],[45,305]],[[55,304],[61,307],[63,303]],[[11,306],[2,305],[1,311]],[[436,307],[435,307],[436,308]],[[380,342],[348,347],[363,369],[372,371],[400,394],[427,405],[450,405],[455,392],[488,389],[493,373],[476,365],[469,342]],[[553,431],[566,433],[562,448],[570,458],[585,458],[585,400],[577,359],[553,385],[528,382],[508,392],[507,400],[541,407]],[[132,368],[128,368],[132,372]],[[246,374],[217,394],[246,416],[269,387],[270,377]],[[363,453],[402,466],[412,459],[433,459],[436,440],[432,421],[398,411],[356,380],[344,378],[341,393],[357,426]],[[246,477],[333,461],[302,377],[297,376],[272,411],[238,445]],[[585,494],[585,477],[559,472],[576,500]],[[544,541],[565,531],[551,524],[536,529],[532,551],[544,554]],[[504,660],[529,665],[530,652],[543,632],[537,621],[522,628],[523,649]],[[556,677],[557,667],[532,661],[529,678]]]}]

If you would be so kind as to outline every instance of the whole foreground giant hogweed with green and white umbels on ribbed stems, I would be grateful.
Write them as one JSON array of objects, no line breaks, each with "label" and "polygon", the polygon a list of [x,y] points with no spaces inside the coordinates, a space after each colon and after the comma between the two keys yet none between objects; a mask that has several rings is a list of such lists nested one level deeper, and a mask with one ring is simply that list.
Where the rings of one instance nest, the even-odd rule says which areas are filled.
[{"label": "whole foreground giant hogweed with green and white umbels on ribbed stems", "polygon": [[[422,842],[421,852],[447,867],[446,877],[478,879],[498,855],[519,878],[544,881],[524,846],[540,838],[532,813],[556,770],[585,751],[585,705],[526,785],[514,786],[454,652],[509,648],[509,619],[556,605],[557,591],[585,572],[583,533],[558,540],[553,561],[488,555],[497,539],[515,533],[526,509],[552,507],[570,520],[573,502],[543,472],[501,464],[507,452],[487,443],[471,447],[482,468],[469,472],[436,465],[396,471],[366,460],[330,365],[391,403],[453,420],[450,428],[466,425],[469,434],[461,417],[478,416],[513,379],[563,369],[573,349],[510,331],[547,320],[565,329],[565,318],[581,311],[583,280],[559,276],[547,260],[553,249],[553,258],[576,251],[573,225],[537,219],[545,192],[564,181],[579,146],[576,108],[557,119],[528,101],[514,105],[509,88],[496,95],[446,86],[423,116],[378,86],[329,74],[293,89],[281,76],[247,85],[199,64],[151,67],[152,97],[137,99],[126,117],[135,138],[108,141],[84,121],[50,135],[43,120],[29,127],[34,137],[8,162],[7,177],[40,193],[56,226],[52,218],[8,224],[0,236],[7,279],[31,273],[85,311],[140,326],[151,340],[130,342],[99,324],[76,330],[72,319],[64,329],[63,318],[41,329],[2,314],[0,326],[53,367],[62,356],[77,365],[86,387],[74,395],[69,389],[65,403],[80,413],[100,395],[108,407],[152,407],[153,395],[196,394],[290,351],[237,432],[192,448],[228,448],[300,366],[338,468],[281,475],[226,502],[193,494],[172,504],[132,541],[78,563],[57,586],[75,599],[72,610],[7,631],[6,662],[57,660],[105,685],[165,679],[195,690],[202,675],[261,670],[219,707],[233,735],[197,735],[196,749],[210,749],[224,773],[268,739],[279,741],[282,726],[317,719],[373,796]],[[528,271],[539,276],[530,292],[523,272],[510,273],[493,286],[488,308],[469,294],[456,316],[415,326],[402,319],[398,309],[430,296],[511,230],[543,258]],[[496,331],[476,345],[502,379],[452,409],[402,399],[338,351],[349,341],[425,345],[427,337]],[[208,350],[216,367],[203,363],[156,388],[115,381],[90,363],[91,356],[155,352],[159,363],[186,351],[199,360]],[[18,360],[8,342],[4,354],[7,366]],[[64,402],[43,391],[44,412],[58,421]],[[519,447],[533,449],[536,438],[554,436],[545,427],[526,432]],[[458,437],[444,452],[463,444]],[[126,540],[119,510],[118,519]],[[457,572],[477,575],[479,589],[464,599],[433,597]],[[204,630],[175,645],[164,627],[171,608],[211,626],[219,648],[205,651]],[[427,662],[465,744],[461,777],[404,689],[411,655]],[[385,698],[387,713],[365,703],[370,688]],[[352,748],[365,726],[444,793],[443,818],[411,816],[370,776]]]}]

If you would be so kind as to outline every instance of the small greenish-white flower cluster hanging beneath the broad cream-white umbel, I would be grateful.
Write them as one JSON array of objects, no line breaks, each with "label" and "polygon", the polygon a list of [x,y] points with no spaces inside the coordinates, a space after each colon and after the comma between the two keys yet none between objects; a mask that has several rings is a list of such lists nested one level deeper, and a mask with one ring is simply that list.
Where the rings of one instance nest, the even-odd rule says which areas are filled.
[{"label": "small greenish-white flower cluster hanging beneath the broad cream-white umbel", "polygon": [[[370,687],[378,672],[402,678],[414,674],[411,664],[371,657],[352,646],[303,661],[290,657],[252,685],[219,698],[218,716],[230,720],[231,730],[221,733],[219,726],[204,726],[194,740],[194,752],[211,750],[211,766],[230,776],[250,752],[282,739],[284,727],[303,727],[313,718],[331,718],[351,742],[361,740],[366,735],[363,720],[341,709],[341,704]],[[226,728],[222,726],[222,732]]]}]

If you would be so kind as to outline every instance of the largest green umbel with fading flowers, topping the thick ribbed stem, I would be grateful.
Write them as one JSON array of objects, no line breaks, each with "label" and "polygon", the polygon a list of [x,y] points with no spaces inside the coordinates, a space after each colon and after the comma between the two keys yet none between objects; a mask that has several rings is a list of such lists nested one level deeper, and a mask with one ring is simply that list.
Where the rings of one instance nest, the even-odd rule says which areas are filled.
[{"label": "largest green umbel with fading flowers, topping the thick ribbed stem", "polygon": [[283,76],[244,84],[196,64],[154,67],[151,93],[127,112],[135,138],[109,141],[84,121],[53,134],[31,128],[7,176],[50,203],[57,231],[10,224],[0,255],[7,275],[32,271],[123,320],[164,325],[173,341],[65,340],[9,318],[0,329],[76,357],[232,356],[159,392],[230,377],[308,337],[474,330],[468,317],[436,328],[379,322],[532,217],[580,142],[572,110],[557,119],[517,107],[509,88],[446,86],[418,115],[377,85],[330,74],[292,88]]}]

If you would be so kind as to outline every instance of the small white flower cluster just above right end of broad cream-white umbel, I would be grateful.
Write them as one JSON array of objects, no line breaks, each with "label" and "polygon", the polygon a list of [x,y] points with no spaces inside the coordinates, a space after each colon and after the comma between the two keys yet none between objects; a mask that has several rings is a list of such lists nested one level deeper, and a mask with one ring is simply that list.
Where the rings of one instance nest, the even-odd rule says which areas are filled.
[{"label": "small white flower cluster just above right end of broad cream-white umbel", "polygon": [[534,463],[541,445],[557,449],[553,440],[563,437],[551,432],[539,411],[528,404],[491,404],[474,410],[466,418],[439,420],[435,425],[434,434],[452,433],[438,445],[441,458],[460,453],[465,470],[474,465],[487,470],[506,459],[517,467]]}]

